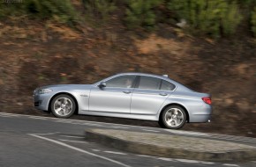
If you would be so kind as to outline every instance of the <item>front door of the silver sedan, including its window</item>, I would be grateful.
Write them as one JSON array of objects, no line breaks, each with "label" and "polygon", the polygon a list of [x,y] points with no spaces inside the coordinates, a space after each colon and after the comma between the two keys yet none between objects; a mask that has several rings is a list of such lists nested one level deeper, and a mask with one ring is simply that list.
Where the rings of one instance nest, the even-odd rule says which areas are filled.
[{"label": "front door of the silver sedan, including its window", "polygon": [[94,87],[89,98],[89,111],[130,113],[134,75],[117,76],[106,81],[106,87]]}]

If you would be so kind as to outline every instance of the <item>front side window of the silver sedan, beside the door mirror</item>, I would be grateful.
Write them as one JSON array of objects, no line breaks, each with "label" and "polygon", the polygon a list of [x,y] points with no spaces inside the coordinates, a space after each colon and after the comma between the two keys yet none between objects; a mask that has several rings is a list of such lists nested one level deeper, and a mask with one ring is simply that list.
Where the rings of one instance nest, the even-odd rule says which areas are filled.
[{"label": "front side window of the silver sedan, beside the door mirror", "polygon": [[131,88],[135,76],[117,76],[106,82],[107,87]]}]

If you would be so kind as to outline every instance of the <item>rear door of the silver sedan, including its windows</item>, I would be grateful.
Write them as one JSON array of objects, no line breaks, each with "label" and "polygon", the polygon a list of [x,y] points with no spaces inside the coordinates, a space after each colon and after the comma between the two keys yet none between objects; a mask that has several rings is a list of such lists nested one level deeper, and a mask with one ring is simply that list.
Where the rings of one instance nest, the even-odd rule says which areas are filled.
[{"label": "rear door of the silver sedan, including its windows", "polygon": [[154,115],[173,92],[174,85],[154,76],[139,76],[132,93],[131,113]]}]

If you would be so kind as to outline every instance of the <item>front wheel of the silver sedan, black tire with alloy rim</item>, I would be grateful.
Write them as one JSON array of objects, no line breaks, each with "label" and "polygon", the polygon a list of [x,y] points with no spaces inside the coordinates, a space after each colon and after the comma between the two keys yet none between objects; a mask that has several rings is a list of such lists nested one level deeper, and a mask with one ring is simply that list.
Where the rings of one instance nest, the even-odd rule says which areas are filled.
[{"label": "front wheel of the silver sedan, black tire with alloy rim", "polygon": [[[66,100],[66,105],[64,105],[65,101],[62,101],[62,99]],[[61,105],[59,105],[59,104],[61,104]],[[58,106],[59,106],[59,108],[58,108]],[[55,98],[52,99],[51,104],[50,104],[51,113],[55,117],[62,118],[62,119],[67,119],[67,118],[71,117],[72,114],[75,113],[76,107],[77,107],[77,105],[76,105],[74,99],[71,96],[66,95],[66,94],[57,95]],[[57,112],[57,109],[60,109],[60,108],[61,108],[61,110],[59,112]],[[63,114],[61,114],[61,113],[63,113]]]}]

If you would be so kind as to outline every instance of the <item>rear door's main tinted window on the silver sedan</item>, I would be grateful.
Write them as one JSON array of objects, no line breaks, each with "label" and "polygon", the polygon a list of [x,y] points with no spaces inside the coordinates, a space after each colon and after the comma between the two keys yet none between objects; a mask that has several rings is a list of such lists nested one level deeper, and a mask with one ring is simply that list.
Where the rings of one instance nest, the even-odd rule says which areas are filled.
[{"label": "rear door's main tinted window on the silver sedan", "polygon": [[161,79],[152,76],[140,76],[139,89],[159,90]]}]

